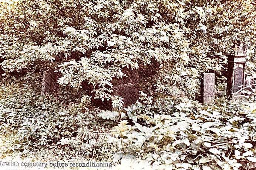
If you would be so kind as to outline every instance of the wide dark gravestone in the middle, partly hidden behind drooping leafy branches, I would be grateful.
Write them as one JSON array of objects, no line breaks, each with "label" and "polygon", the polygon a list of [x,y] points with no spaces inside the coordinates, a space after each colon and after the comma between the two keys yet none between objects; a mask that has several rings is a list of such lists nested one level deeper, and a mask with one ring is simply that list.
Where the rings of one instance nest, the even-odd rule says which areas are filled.
[{"label": "wide dark gravestone in the middle, partly hidden behind drooping leafy branches", "polygon": [[[124,69],[122,72],[127,77],[112,80],[112,95],[121,96],[124,99],[123,107],[127,107],[134,104],[139,98],[139,74],[137,70]],[[94,106],[102,110],[116,110],[116,108],[112,108],[111,101],[104,100],[102,102],[99,99],[94,99],[94,94],[91,93],[92,87],[88,83],[82,83],[82,88],[85,90],[85,93],[92,96],[92,104]]]}]

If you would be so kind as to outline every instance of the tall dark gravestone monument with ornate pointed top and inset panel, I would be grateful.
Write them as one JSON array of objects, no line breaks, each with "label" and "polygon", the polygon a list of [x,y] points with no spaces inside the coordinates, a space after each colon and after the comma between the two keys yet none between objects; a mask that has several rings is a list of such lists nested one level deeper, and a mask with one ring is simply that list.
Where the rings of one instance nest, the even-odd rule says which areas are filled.
[{"label": "tall dark gravestone monument with ornate pointed top and inset panel", "polygon": [[235,55],[228,57],[228,79],[227,95],[235,97],[242,95],[241,91],[245,85],[246,50],[243,44]]}]

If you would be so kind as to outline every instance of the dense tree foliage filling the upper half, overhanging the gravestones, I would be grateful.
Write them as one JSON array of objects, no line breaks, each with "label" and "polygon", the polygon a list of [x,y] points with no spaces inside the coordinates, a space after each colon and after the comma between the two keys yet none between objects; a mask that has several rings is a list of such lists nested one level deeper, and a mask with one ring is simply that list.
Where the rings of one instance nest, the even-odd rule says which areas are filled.
[{"label": "dense tree foliage filling the upper half, overhanging the gravestones", "polygon": [[[171,95],[178,86],[198,94],[201,72],[216,73],[221,88],[232,48],[240,42],[255,48],[253,1],[20,0],[0,5],[0,57],[7,74],[56,66],[60,84],[79,88],[87,81],[102,100],[120,100],[110,94],[111,80],[124,76],[124,67],[141,70],[141,81],[155,85],[144,89],[148,93]],[[146,76],[148,65],[158,65],[155,79]],[[255,74],[255,66],[248,65],[249,74]]]}]

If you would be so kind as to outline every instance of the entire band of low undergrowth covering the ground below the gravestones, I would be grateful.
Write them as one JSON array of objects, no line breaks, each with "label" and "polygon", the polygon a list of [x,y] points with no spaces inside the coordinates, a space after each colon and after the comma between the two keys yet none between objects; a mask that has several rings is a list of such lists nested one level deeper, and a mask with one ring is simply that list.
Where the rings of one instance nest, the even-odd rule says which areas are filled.
[{"label": "entire band of low undergrowth covering the ground below the gravestones", "polygon": [[6,96],[0,100],[1,135],[16,136],[3,154],[48,149],[55,159],[94,158],[154,169],[255,166],[255,96],[242,102],[223,96],[202,105],[170,97],[153,101],[142,93],[135,105],[111,112],[84,108],[88,100],[65,106],[51,96],[38,97],[31,85],[17,84],[1,86]]}]

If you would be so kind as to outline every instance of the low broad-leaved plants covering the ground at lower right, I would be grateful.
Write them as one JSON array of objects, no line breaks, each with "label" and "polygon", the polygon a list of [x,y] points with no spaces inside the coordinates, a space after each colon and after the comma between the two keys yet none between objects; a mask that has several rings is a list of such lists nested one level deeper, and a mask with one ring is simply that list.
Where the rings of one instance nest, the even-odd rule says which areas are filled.
[{"label": "low broad-leaved plants covering the ground at lower right", "polygon": [[[212,105],[161,100],[168,107],[142,101],[126,110],[132,124],[122,120],[110,137],[119,144],[114,160],[130,155],[156,167],[193,170],[246,169],[248,162],[256,162],[255,103],[225,98]],[[141,112],[142,107],[154,118]]]}]

